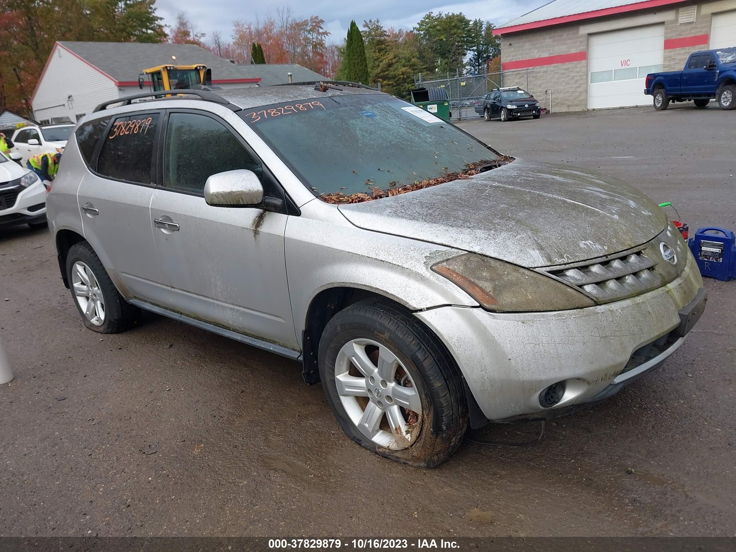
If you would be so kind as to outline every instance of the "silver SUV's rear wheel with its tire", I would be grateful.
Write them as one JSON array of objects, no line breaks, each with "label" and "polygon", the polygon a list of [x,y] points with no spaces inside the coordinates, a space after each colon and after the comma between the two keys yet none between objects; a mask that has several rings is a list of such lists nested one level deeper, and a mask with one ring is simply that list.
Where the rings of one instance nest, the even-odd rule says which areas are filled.
[{"label": "silver SUV's rear wheel with its tire", "polygon": [[80,241],[66,255],[68,278],[74,305],[82,322],[99,333],[118,333],[131,328],[141,311],[121,297],[107,275],[96,252],[86,241]]}]

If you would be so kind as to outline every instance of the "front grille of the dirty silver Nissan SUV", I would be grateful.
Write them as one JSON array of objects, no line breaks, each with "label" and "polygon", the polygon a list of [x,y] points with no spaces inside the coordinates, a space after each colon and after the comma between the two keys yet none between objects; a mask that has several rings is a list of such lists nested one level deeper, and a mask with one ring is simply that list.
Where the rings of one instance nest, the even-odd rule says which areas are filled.
[{"label": "front grille of the dirty silver Nissan SUV", "polygon": [[[676,252],[677,263],[662,257],[659,244],[665,241]],[[670,227],[657,238],[633,250],[582,263],[541,269],[592,297],[598,303],[618,301],[646,293],[674,280],[687,262],[687,244]]]}]

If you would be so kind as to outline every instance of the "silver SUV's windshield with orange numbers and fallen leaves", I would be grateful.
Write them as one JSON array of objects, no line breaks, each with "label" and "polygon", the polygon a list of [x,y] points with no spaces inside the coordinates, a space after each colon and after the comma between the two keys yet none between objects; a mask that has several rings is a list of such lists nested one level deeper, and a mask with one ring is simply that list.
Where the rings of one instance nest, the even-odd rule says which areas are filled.
[{"label": "silver SUV's windshield with orange numbers and fallen leaves", "polygon": [[375,196],[377,187],[455,180],[448,173],[476,169],[481,161],[498,166],[485,144],[386,94],[328,96],[239,115],[318,195]]}]

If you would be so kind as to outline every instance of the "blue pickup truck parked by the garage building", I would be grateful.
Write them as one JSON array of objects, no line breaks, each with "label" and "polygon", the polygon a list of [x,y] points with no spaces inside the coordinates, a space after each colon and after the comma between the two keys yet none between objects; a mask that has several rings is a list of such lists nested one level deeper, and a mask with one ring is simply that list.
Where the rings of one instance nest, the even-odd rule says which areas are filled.
[{"label": "blue pickup truck parked by the garage building", "polygon": [[654,96],[654,109],[667,109],[670,102],[693,100],[705,107],[717,99],[721,109],[736,107],[736,48],[704,50],[690,54],[682,71],[650,73],[644,93]]}]

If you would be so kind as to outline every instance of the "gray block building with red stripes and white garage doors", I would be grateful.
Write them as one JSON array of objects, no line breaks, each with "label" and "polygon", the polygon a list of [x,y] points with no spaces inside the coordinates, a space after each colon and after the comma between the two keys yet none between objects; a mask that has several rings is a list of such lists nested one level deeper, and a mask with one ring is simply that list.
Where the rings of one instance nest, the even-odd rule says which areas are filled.
[{"label": "gray block building with red stripes and white garage doors", "polygon": [[553,0],[494,30],[504,86],[551,111],[650,105],[645,77],[736,46],[736,0]]}]

